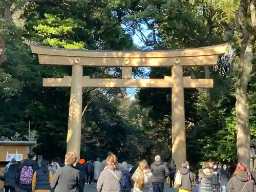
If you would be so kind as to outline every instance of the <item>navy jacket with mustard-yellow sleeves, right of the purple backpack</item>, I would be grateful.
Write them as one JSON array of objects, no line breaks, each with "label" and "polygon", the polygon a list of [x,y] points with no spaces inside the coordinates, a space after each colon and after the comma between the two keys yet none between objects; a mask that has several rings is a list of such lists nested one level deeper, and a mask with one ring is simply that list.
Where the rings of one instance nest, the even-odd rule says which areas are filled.
[{"label": "navy jacket with mustard-yellow sleeves, right of the purple backpack", "polygon": [[33,175],[32,180],[32,191],[36,190],[44,190],[44,191],[50,191],[51,186],[50,183],[52,182],[53,176],[50,170],[47,170],[47,172],[43,172],[42,168],[39,168],[36,170],[36,172]]}]

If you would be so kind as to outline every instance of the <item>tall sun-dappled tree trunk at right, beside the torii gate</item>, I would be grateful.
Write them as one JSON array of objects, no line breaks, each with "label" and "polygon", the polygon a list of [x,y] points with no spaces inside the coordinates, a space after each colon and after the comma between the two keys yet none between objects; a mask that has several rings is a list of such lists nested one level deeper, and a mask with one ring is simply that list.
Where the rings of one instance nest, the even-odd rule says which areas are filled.
[{"label": "tall sun-dappled tree trunk at right, beside the torii gate", "polygon": [[[251,24],[247,23],[247,13],[250,6]],[[234,84],[236,89],[236,113],[237,113],[237,150],[238,162],[250,165],[250,126],[249,126],[249,101],[247,87],[252,72],[252,58],[254,47],[254,34],[250,28],[256,27],[255,0],[250,4],[248,0],[241,0],[237,12],[237,23],[239,24],[243,40],[241,43],[240,60],[238,66],[238,81]],[[249,27],[250,26],[250,27]]]}]

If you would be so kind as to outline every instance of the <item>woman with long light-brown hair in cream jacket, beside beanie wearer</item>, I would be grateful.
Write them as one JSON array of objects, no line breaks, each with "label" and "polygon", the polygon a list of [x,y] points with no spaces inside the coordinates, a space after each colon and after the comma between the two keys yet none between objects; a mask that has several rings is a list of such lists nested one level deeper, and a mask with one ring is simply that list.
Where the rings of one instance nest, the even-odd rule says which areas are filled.
[{"label": "woman with long light-brown hair in cream jacket, beside beanie wearer", "polygon": [[141,160],[132,176],[132,180],[135,182],[133,192],[153,192],[152,182],[154,179],[146,160]]}]

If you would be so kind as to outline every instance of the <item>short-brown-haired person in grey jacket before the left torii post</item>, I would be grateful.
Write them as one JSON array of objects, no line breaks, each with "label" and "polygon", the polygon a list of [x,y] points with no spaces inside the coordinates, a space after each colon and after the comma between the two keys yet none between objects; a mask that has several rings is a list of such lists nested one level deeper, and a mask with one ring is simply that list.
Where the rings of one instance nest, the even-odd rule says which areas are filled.
[{"label": "short-brown-haired person in grey jacket before the left torii post", "polygon": [[83,192],[80,182],[80,171],[74,167],[77,154],[69,152],[65,156],[65,166],[54,175],[51,187],[54,192]]}]

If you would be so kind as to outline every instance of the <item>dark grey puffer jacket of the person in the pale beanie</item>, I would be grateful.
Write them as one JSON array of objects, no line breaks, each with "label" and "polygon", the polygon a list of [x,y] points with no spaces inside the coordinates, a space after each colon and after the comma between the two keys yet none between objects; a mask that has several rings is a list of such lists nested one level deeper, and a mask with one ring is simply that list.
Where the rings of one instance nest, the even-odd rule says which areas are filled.
[{"label": "dark grey puffer jacket of the person in the pale beanie", "polygon": [[169,169],[162,161],[155,161],[151,164],[151,171],[155,177],[154,183],[164,183],[169,176]]}]

